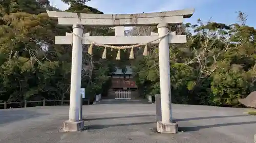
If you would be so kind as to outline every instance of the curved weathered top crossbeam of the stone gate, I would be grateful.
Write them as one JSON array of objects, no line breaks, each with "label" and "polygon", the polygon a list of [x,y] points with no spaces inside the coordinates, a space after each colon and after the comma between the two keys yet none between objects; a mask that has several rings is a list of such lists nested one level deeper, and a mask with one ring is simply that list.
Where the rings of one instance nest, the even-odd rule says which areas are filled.
[{"label": "curved weathered top crossbeam of the stone gate", "polygon": [[87,26],[153,26],[159,23],[179,24],[193,15],[194,9],[139,13],[139,14],[88,14],[47,11],[50,17],[57,17],[61,25]]}]

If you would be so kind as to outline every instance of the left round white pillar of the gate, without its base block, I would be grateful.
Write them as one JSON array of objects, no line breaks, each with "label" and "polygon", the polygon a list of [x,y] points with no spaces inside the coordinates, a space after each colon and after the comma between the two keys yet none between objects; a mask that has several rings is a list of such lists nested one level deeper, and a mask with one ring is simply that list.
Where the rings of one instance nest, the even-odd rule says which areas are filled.
[{"label": "left round white pillar of the gate, without its base block", "polygon": [[[69,121],[79,121],[82,71],[82,25],[73,25],[72,66],[70,85]],[[76,36],[78,35],[78,36]]]}]

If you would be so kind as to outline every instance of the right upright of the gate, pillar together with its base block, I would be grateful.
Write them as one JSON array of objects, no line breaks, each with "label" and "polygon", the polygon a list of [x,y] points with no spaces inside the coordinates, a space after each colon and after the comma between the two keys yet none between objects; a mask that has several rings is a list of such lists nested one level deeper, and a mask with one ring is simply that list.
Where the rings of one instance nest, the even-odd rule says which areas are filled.
[{"label": "right upright of the gate, pillar together with its base block", "polygon": [[[159,37],[168,33],[168,25],[157,25]],[[157,131],[160,133],[177,133],[178,124],[172,120],[172,101],[170,98],[170,61],[169,61],[169,36],[160,39],[159,43],[159,74],[160,74],[160,98],[161,121],[157,121]],[[158,111],[159,112],[159,111]],[[158,118],[157,118],[158,120]]]}]

